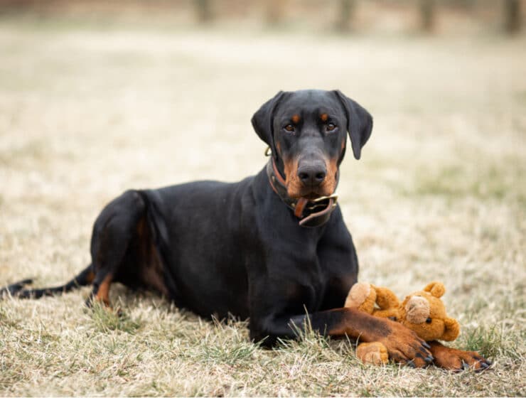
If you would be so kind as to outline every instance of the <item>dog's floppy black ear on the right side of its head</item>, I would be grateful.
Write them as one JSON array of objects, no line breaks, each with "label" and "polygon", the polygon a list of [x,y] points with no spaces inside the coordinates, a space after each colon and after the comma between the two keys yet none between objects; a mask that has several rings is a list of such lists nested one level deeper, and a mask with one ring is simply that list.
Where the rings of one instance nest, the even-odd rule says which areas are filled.
[{"label": "dog's floppy black ear on the right side of its head", "polygon": [[372,131],[372,116],[357,102],[343,95],[340,90],[335,90],[336,97],[345,109],[347,116],[347,131],[350,136],[350,143],[353,144],[353,154],[356,159],[360,158],[362,146],[369,139]]}]

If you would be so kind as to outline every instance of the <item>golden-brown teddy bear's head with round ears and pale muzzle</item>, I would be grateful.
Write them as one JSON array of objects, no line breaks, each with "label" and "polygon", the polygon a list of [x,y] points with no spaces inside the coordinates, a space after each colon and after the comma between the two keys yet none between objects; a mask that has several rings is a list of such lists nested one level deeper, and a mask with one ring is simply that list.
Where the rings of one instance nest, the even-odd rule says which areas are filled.
[{"label": "golden-brown teddy bear's head with round ears and pale muzzle", "polygon": [[446,307],[440,299],[445,291],[444,284],[431,282],[424,290],[409,294],[399,307],[397,321],[426,341],[455,340],[460,325],[446,315]]}]

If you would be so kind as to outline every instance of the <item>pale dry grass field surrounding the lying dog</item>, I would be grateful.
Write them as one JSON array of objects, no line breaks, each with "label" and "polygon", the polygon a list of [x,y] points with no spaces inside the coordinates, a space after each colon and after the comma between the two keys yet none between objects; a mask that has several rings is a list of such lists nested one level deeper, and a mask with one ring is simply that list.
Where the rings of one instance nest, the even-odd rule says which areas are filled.
[{"label": "pale dry grass field surrounding the lying dog", "polygon": [[314,36],[0,20],[0,286],[61,283],[127,188],[236,181],[264,165],[250,118],[278,90],[340,88],[375,117],[338,192],[360,280],[446,285],[453,345],[491,370],[361,365],[314,333],[277,350],[114,286],[0,301],[0,396],[525,396],[526,39]]}]

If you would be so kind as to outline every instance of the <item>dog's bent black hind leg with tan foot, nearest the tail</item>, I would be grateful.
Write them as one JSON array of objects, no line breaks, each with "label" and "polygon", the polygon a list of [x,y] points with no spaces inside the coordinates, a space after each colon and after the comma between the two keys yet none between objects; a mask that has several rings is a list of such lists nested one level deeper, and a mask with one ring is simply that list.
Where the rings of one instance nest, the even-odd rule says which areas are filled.
[{"label": "dog's bent black hind leg with tan foot, nearest the tail", "polygon": [[136,190],[127,190],[112,200],[100,213],[93,227],[91,256],[95,279],[86,303],[98,301],[109,306],[109,288],[126,271],[124,259],[130,249],[139,221],[146,214],[146,204]]}]

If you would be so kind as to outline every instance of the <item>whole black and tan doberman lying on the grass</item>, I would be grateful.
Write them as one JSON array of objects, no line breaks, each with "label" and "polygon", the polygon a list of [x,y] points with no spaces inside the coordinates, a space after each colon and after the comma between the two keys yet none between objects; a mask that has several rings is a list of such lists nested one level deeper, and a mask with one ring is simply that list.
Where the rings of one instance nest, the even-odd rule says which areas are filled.
[{"label": "whole black and tan doberman lying on the grass", "polygon": [[95,221],[92,263],[68,284],[4,288],[38,298],[92,285],[87,303],[109,306],[121,282],[149,288],[200,316],[249,318],[262,345],[294,338],[306,323],[326,335],[380,341],[390,357],[423,367],[433,358],[461,369],[488,366],[476,353],[428,345],[399,323],[342,308],[358,259],[336,204],[348,131],[353,154],[372,117],[340,91],[279,92],[252,117],[272,156],[239,183],[198,181],[128,190]]}]

